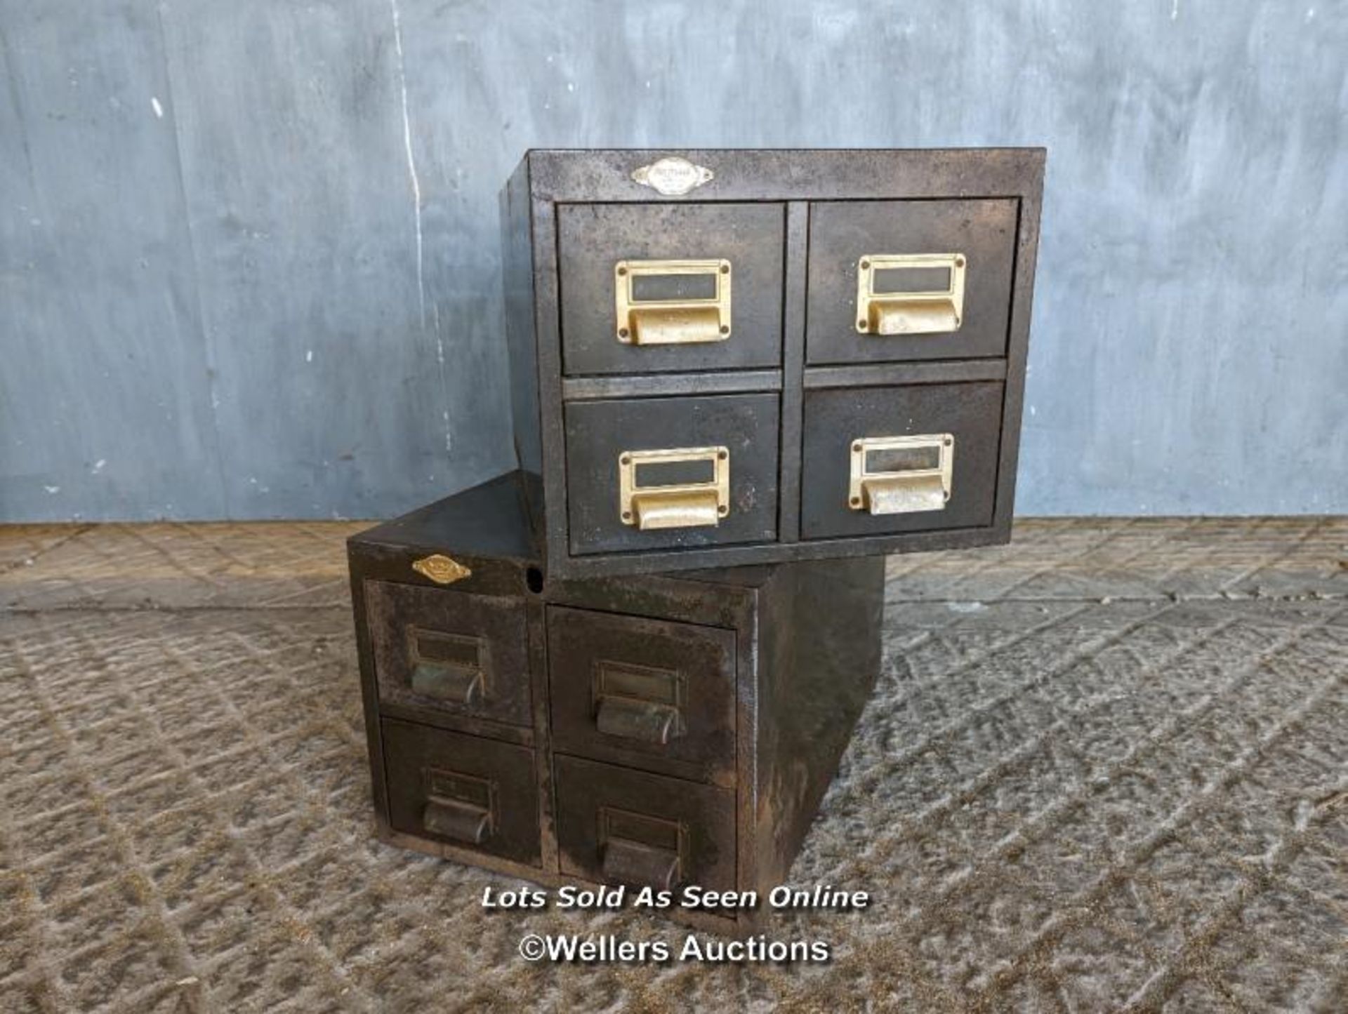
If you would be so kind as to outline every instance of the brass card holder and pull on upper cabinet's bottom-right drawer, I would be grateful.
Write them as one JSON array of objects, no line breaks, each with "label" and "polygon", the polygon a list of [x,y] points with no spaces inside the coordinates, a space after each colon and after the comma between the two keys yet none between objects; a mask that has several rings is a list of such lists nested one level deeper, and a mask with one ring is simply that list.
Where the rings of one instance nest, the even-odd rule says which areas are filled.
[{"label": "brass card holder and pull on upper cabinet's bottom-right drawer", "polygon": [[874,516],[944,510],[953,465],[950,434],[853,440],[848,506]]}]

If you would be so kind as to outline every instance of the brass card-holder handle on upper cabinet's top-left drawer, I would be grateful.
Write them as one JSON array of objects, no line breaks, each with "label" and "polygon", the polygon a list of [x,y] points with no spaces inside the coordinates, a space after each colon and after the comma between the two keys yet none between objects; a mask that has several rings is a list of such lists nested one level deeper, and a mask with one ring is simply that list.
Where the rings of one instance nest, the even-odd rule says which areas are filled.
[{"label": "brass card-holder handle on upper cabinet's top-left drawer", "polygon": [[[643,298],[638,292],[639,283],[671,276],[702,276],[710,295]],[[731,337],[728,260],[620,260],[613,265],[613,294],[623,345],[697,345]]]}]

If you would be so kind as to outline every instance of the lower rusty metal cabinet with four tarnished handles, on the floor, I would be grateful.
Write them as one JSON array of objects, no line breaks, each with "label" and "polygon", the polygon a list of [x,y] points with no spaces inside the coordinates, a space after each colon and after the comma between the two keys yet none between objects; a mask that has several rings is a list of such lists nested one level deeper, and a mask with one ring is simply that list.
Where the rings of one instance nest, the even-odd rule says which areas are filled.
[{"label": "lower rusty metal cabinet with four tarnished handles, on the floor", "polygon": [[879,672],[883,559],[550,580],[520,482],[348,544],[380,836],[545,885],[766,898]]}]

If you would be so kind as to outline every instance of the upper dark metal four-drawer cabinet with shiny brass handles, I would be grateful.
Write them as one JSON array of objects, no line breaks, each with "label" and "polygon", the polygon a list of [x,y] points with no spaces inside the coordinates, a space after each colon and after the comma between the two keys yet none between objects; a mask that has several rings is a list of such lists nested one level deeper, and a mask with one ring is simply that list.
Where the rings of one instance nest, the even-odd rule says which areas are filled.
[{"label": "upper dark metal four-drawer cabinet with shiny brass handles", "polygon": [[504,325],[551,572],[1006,541],[1043,160],[528,152]]}]

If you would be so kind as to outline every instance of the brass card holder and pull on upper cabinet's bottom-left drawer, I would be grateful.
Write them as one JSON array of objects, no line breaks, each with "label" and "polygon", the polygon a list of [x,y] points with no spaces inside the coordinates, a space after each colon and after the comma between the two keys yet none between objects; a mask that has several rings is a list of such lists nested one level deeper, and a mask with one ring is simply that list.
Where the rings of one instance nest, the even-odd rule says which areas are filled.
[{"label": "brass card holder and pull on upper cabinet's bottom-left drawer", "polygon": [[[712,478],[643,486],[638,469],[686,462],[712,466]],[[731,513],[731,452],[725,447],[623,451],[617,459],[617,510],[624,525],[643,532],[714,525]]]}]

